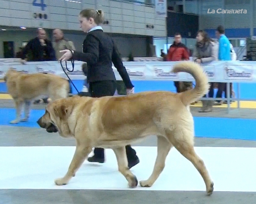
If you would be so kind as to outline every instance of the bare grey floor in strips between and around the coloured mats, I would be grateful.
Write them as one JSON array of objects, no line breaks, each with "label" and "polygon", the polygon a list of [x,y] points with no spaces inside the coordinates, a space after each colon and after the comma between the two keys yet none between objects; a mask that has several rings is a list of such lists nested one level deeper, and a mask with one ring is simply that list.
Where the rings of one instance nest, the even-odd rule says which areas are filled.
[{"label": "bare grey floor in strips between and around the coloured mats", "polygon": [[[12,101],[0,101],[0,107],[12,108]],[[44,105],[33,108],[44,109]],[[215,108],[212,113],[198,113],[191,108],[194,116],[256,118],[256,109]],[[58,133],[47,133],[44,129],[0,126],[0,146],[73,146],[73,139],[64,139]],[[148,137],[139,146],[156,146],[156,138]],[[229,140],[217,138],[196,138],[198,147],[256,147],[256,141]],[[108,178],[106,178],[108,179]],[[171,184],[170,184],[171,185]],[[113,191],[113,190],[0,190],[0,204],[255,204],[256,193],[177,191]]]}]

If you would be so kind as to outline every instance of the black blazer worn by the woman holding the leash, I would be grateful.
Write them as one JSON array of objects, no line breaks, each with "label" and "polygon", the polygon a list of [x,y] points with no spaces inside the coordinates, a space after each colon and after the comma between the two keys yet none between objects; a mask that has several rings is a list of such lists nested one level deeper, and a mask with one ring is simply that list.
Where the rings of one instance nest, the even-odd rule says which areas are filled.
[{"label": "black blazer worn by the woman holding the leash", "polygon": [[116,80],[112,69],[112,62],[119,72],[126,88],[133,88],[133,84],[122,63],[113,39],[102,30],[88,32],[84,43],[83,52],[74,51],[73,60],[87,62],[87,82],[101,80]]}]

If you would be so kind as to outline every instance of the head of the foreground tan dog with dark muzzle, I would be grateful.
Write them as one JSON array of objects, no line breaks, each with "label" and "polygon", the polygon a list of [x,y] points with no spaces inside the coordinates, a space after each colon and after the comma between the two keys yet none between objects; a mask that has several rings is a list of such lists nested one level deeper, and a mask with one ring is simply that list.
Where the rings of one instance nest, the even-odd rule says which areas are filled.
[{"label": "head of the foreground tan dog with dark muzzle", "polygon": [[67,99],[59,99],[49,103],[44,115],[37,121],[41,128],[47,132],[58,132],[64,138],[72,136],[68,124],[68,117],[73,106],[67,103]]}]

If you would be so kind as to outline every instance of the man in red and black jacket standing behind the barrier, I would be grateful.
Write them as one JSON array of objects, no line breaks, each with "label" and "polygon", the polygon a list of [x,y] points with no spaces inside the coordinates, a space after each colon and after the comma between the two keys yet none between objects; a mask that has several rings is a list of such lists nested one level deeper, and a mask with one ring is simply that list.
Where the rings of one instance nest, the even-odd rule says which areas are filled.
[{"label": "man in red and black jacket standing behind the barrier", "polygon": [[[189,60],[189,49],[181,43],[181,34],[176,33],[174,36],[174,43],[170,46],[169,52],[167,54],[167,61],[181,61],[181,60]],[[182,92],[183,90],[180,90],[179,81],[175,81],[174,85],[177,89],[177,92]],[[184,82],[183,82],[184,83]],[[184,83],[186,86],[188,83]],[[189,82],[189,86],[190,86]]]}]

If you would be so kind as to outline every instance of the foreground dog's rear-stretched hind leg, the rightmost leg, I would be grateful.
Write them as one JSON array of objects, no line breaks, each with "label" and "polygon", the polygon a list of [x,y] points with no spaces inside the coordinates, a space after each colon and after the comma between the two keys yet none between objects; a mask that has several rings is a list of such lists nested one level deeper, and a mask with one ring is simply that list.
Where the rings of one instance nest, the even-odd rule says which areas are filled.
[{"label": "foreground dog's rear-stretched hind leg, the rightmost leg", "polygon": [[194,134],[192,129],[189,129],[187,126],[179,127],[173,130],[173,133],[174,134],[169,135],[171,143],[195,166],[204,179],[207,195],[211,195],[213,192],[213,182],[204,165],[204,161],[195,152],[193,142]]}]

